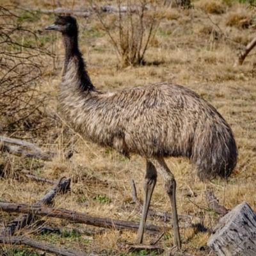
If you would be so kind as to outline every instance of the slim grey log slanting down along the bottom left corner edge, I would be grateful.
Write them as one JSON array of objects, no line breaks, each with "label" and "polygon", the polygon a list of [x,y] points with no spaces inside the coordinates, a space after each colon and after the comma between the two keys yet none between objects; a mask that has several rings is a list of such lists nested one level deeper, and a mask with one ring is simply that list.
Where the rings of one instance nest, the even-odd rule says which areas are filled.
[{"label": "slim grey log slanting down along the bottom left corner edge", "polygon": [[58,255],[63,256],[86,256],[83,252],[77,252],[68,248],[63,248],[59,246],[54,246],[52,244],[42,243],[36,241],[34,239],[30,239],[28,237],[22,236],[12,236],[12,237],[1,237],[0,236],[0,243],[2,244],[26,244],[33,248],[37,248],[44,252],[56,253]]}]

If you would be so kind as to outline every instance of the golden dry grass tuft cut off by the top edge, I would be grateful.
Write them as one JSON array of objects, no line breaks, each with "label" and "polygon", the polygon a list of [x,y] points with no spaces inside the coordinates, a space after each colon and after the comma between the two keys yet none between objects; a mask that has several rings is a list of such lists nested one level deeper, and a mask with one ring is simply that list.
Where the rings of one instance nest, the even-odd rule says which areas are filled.
[{"label": "golden dry grass tuft cut off by the top edge", "polygon": [[226,10],[226,6],[221,0],[199,0],[195,3],[195,6],[202,8],[202,10],[207,13],[221,14]]}]

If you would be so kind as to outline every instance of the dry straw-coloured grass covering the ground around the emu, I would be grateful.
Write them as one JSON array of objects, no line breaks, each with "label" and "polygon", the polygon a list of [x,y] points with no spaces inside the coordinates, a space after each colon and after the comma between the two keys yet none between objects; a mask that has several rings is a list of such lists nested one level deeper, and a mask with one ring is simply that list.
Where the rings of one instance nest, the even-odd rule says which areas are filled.
[{"label": "dry straw-coloured grass covering the ground around the emu", "polygon": [[[68,8],[84,4],[84,1],[79,0],[60,2]],[[192,220],[194,227],[184,227],[184,223],[180,222],[182,250],[191,255],[213,255],[206,246],[211,233],[196,228],[198,218],[200,224],[211,229],[219,217],[209,209],[205,200],[205,190],[213,189],[214,194],[220,199],[220,204],[228,209],[246,200],[256,211],[254,193],[256,182],[256,61],[253,55],[255,51],[252,51],[246,58],[243,66],[233,67],[239,49],[255,36],[255,12],[248,8],[248,4],[237,2],[235,0],[200,0],[194,1],[194,8],[189,10],[172,8],[172,6],[167,8],[159,4],[157,7],[159,8],[157,12],[159,26],[154,31],[156,35],[150,41],[145,53],[145,65],[128,66],[122,69],[118,68],[120,63],[116,58],[115,47],[111,44],[108,33],[102,28],[97,16],[92,15],[88,19],[78,18],[81,51],[84,53],[96,88],[122,90],[160,81],[182,84],[209,100],[234,131],[239,159],[236,171],[227,182],[215,179],[207,184],[202,183],[196,177],[193,166],[188,160],[183,158],[167,160],[177,180],[178,213],[195,216]],[[0,3],[3,5],[4,1]],[[22,8],[55,8],[56,6],[52,3],[53,1],[47,0],[11,1],[11,4],[19,4]],[[97,3],[106,4],[105,1]],[[108,1],[108,3],[115,4],[116,1]],[[8,127],[8,120],[6,121],[6,116],[0,111],[1,135],[26,138],[44,150],[58,152],[58,156],[51,162],[44,162],[1,154],[1,202],[33,204],[51,188],[51,184],[29,180],[21,172],[29,170],[35,175],[48,179],[57,180],[63,175],[72,176],[72,191],[67,195],[58,196],[54,200],[54,207],[120,220],[140,220],[136,212],[125,211],[122,205],[132,200],[131,178],[135,180],[139,198],[143,199],[145,159],[133,156],[129,161],[108,148],[101,148],[84,141],[65,122],[65,117],[61,116],[60,106],[56,100],[64,56],[61,35],[44,31],[44,28],[53,22],[54,15],[39,12],[34,14],[37,18],[31,20],[19,12],[24,19],[23,25],[29,26],[40,40],[41,46],[39,46],[51,52],[51,54],[40,54],[40,63],[44,68],[34,83],[36,92],[39,91],[41,95],[46,95],[44,104],[38,106],[40,111],[33,113],[36,124],[38,120],[41,120],[36,126],[38,128],[36,131],[40,132],[29,131],[29,125],[24,131],[24,123],[19,123],[21,127],[16,125],[14,128],[12,126],[3,131],[3,122],[4,127]],[[111,15],[105,15],[104,19],[109,21]],[[31,44],[38,47],[35,39],[31,40]],[[3,61],[2,56],[1,61]],[[23,71],[26,72],[26,70]],[[28,97],[24,100],[28,100]],[[32,121],[33,119],[29,120],[29,122]],[[35,128],[35,125],[31,127]],[[70,147],[74,148],[74,156],[65,160],[63,156]],[[194,196],[188,198],[189,193]],[[170,211],[170,203],[161,179],[158,180],[152,196],[151,208]],[[1,213],[0,219],[6,223],[13,220],[15,216],[17,214]],[[84,225],[76,225],[64,220],[42,218],[41,221],[44,227],[86,228]],[[148,223],[170,226],[170,223],[163,223],[158,218],[148,218]],[[93,235],[93,239],[90,240],[84,235],[77,236],[76,234],[33,235],[29,234],[29,230],[22,230],[22,232],[33,239],[86,253],[97,252],[100,255],[132,255],[132,253],[121,250],[118,243],[132,242],[136,235],[131,231],[111,230],[104,234]],[[151,239],[152,237],[146,234],[145,243]],[[161,239],[160,246],[166,250],[172,247],[172,228]],[[43,255],[43,252],[36,252],[26,246],[1,245],[1,247],[4,252],[13,256]],[[143,253],[145,254],[141,252],[140,255]]]}]

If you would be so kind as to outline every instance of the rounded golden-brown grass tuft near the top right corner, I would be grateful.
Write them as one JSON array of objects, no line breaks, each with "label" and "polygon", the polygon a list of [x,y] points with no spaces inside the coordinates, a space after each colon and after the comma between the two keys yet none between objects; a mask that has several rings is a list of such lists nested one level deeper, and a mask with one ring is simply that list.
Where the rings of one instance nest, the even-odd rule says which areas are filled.
[{"label": "rounded golden-brown grass tuft near the top right corner", "polygon": [[226,16],[225,24],[226,26],[234,26],[236,28],[248,28],[252,25],[253,20],[250,12],[246,12],[244,9],[239,9],[237,12],[228,13]]}]

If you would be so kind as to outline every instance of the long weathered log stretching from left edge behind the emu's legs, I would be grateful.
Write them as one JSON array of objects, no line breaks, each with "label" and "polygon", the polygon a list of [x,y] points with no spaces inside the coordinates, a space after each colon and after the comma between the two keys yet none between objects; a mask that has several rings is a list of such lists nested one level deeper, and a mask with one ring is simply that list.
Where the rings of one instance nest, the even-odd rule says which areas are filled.
[{"label": "long weathered log stretching from left edge behind the emu's legs", "polygon": [[[53,218],[60,218],[72,221],[73,223],[83,223],[95,227],[115,228],[116,230],[132,229],[138,230],[138,222],[115,220],[111,218],[100,218],[90,216],[89,214],[69,211],[67,209],[58,209],[54,207],[44,207],[42,205],[28,205],[28,204],[13,204],[0,202],[0,210],[4,212],[26,212],[33,216],[47,216]],[[145,231],[159,232],[163,231],[164,227],[157,227],[156,225],[147,224]]]}]

